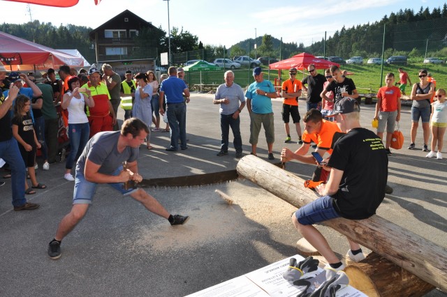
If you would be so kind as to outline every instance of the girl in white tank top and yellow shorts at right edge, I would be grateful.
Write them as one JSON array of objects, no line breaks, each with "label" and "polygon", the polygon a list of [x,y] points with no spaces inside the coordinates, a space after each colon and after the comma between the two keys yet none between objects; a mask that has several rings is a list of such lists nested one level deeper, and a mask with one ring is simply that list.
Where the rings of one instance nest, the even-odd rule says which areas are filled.
[{"label": "girl in white tank top and yellow shorts at right edge", "polygon": [[[446,90],[439,89],[434,96],[432,103],[432,115],[430,116],[430,125],[432,130],[432,151],[425,157],[433,158],[436,155],[438,160],[442,159],[442,145],[444,142],[444,133],[447,128],[447,102]],[[434,148],[438,144],[438,152],[434,153]]]}]

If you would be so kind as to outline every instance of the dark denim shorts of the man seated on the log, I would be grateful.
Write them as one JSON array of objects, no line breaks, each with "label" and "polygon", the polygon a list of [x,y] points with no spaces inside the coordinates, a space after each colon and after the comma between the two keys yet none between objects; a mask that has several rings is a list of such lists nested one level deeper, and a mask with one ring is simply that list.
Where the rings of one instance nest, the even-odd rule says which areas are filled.
[{"label": "dark denim shorts of the man seated on the log", "polygon": [[332,197],[323,196],[312,201],[295,212],[295,216],[300,224],[309,225],[318,222],[340,218],[332,204]]}]

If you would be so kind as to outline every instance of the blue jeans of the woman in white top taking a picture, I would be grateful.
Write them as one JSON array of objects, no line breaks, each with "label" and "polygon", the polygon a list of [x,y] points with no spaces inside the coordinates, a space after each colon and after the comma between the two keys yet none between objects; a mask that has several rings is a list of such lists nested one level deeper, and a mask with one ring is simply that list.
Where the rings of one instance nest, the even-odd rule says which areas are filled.
[{"label": "blue jeans of the woman in white top taking a picture", "polygon": [[70,138],[70,154],[65,163],[66,169],[72,169],[75,160],[78,160],[85,145],[89,141],[89,123],[68,124],[68,137]]}]

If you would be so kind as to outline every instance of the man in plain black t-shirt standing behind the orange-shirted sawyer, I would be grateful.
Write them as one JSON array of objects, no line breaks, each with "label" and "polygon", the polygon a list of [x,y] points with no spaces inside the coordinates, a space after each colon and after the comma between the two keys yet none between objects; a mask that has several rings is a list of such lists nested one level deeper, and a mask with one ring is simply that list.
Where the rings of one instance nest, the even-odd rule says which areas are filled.
[{"label": "man in plain black t-shirt standing behind the orange-shirted sawyer", "polygon": [[[301,81],[302,89],[307,92],[307,111],[309,112],[312,108],[321,110],[320,93],[323,91],[323,84],[325,83],[326,78],[316,72],[314,64],[310,64],[307,67],[307,70],[309,70],[310,75],[307,75],[307,77]],[[307,84],[307,87],[305,84]]]}]

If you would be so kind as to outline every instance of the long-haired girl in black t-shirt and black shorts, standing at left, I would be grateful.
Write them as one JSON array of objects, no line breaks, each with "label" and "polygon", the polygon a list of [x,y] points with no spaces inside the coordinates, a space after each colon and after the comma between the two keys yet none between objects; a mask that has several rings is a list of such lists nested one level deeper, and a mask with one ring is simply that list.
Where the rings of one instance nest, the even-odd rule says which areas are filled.
[{"label": "long-haired girl in black t-shirt and black shorts, standing at left", "polygon": [[[13,135],[19,143],[20,154],[24,164],[28,167],[28,174],[31,178],[33,189],[45,189],[46,185],[38,183],[36,172],[34,170],[34,160],[36,159],[36,148],[41,148],[38,142],[36,132],[34,132],[33,120],[29,114],[31,100],[27,96],[19,95],[15,98],[14,117],[13,117]],[[36,194],[36,191],[29,188],[25,180],[25,194]]]}]

